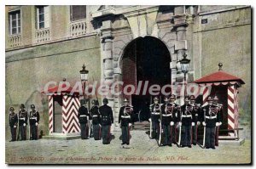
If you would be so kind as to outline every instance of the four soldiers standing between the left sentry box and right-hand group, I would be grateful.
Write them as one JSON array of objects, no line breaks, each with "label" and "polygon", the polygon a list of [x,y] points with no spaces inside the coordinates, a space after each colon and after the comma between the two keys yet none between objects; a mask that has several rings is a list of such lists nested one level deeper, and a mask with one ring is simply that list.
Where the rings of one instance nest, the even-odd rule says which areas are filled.
[{"label": "four soldiers standing between the left sentry box and right-hand group", "polygon": [[[89,139],[93,135],[95,140],[102,138],[102,144],[110,144],[111,125],[113,124],[113,111],[108,106],[108,99],[102,100],[103,105],[99,107],[97,100],[92,101],[90,111],[85,106],[84,100],[81,101],[79,108],[79,123],[81,129],[81,138]],[[122,144],[130,144],[130,130],[132,123],[133,109],[129,105],[129,100],[124,100],[124,106],[119,110],[119,127],[122,130]],[[92,127],[91,127],[92,126]],[[91,134],[92,129],[92,134]]]}]

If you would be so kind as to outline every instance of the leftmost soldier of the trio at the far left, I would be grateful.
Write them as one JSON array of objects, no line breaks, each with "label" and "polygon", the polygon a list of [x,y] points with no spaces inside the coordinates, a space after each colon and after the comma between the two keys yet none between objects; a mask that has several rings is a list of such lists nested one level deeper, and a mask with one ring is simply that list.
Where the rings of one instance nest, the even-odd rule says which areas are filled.
[{"label": "leftmost soldier of the trio at the far left", "polygon": [[11,142],[16,141],[16,132],[17,132],[17,124],[18,124],[18,115],[15,113],[15,108],[9,108],[9,127],[12,135]]}]

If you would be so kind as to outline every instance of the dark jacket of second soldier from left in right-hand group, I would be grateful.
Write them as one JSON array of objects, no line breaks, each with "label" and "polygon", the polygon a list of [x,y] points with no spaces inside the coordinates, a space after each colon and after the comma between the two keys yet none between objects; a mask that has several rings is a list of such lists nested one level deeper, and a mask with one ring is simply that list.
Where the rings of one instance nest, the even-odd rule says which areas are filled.
[{"label": "dark jacket of second soldier from left in right-hand group", "polygon": [[175,119],[175,104],[162,104],[161,105],[161,123],[164,125],[170,125],[171,121]]}]

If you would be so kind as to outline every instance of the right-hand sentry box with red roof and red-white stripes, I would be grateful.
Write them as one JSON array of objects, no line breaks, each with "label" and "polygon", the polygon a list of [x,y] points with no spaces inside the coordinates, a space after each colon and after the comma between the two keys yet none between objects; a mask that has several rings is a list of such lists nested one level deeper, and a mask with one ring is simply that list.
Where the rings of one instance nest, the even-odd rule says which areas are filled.
[{"label": "right-hand sentry box with red roof and red-white stripes", "polygon": [[[223,125],[220,127],[219,139],[239,138],[238,136],[238,88],[245,84],[241,78],[230,75],[222,70],[219,63],[219,70],[210,75],[203,76],[195,83],[206,86],[203,91],[203,104],[207,104],[208,96],[218,96],[219,104],[223,104]],[[211,86],[211,91],[207,86]],[[222,132],[223,131],[223,132]]]}]

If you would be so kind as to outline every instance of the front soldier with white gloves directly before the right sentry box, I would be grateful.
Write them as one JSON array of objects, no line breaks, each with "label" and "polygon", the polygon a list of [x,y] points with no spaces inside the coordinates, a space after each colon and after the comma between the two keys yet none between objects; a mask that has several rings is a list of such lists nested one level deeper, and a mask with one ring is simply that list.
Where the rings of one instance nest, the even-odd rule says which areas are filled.
[{"label": "front soldier with white gloves directly before the right sentry box", "polygon": [[218,106],[212,104],[212,98],[208,97],[208,104],[202,107],[204,114],[203,126],[206,127],[206,149],[215,149],[215,132],[216,126],[219,126],[220,119],[218,116]]}]

